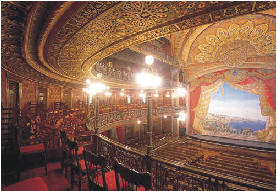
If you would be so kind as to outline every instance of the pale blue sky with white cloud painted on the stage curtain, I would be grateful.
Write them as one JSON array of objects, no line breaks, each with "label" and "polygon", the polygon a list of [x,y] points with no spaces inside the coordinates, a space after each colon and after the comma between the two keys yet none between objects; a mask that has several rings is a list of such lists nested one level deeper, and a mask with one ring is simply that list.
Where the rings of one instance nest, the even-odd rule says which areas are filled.
[{"label": "pale blue sky with white cloud painted on the stage curtain", "polygon": [[258,95],[232,88],[226,83],[223,89],[223,95],[222,88],[212,94],[208,113],[266,121],[261,114]]}]

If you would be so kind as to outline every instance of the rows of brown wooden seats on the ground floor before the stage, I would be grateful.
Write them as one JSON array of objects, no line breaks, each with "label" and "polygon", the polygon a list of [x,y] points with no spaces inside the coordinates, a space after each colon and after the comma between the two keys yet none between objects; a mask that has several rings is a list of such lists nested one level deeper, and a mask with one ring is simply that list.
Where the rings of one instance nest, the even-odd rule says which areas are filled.
[{"label": "rows of brown wooden seats on the ground floor before the stage", "polygon": [[240,148],[232,149],[220,145],[211,147],[212,143],[206,146],[199,143],[200,141],[193,140],[177,141],[157,149],[154,154],[159,158],[187,163],[192,167],[211,172],[231,175],[244,180],[275,184],[275,169],[260,165],[257,156],[250,156]]}]

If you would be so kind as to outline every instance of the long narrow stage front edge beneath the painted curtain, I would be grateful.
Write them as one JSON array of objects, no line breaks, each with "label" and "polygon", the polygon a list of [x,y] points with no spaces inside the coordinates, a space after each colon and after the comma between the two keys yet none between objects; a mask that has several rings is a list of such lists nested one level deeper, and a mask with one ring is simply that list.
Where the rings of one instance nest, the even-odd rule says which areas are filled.
[{"label": "long narrow stage front edge beneath the painted curtain", "polygon": [[223,145],[232,145],[232,146],[247,147],[247,148],[259,149],[259,150],[276,151],[275,144],[266,143],[266,142],[231,139],[226,137],[217,137],[217,136],[210,136],[210,135],[190,135],[189,137],[196,140],[220,143]]}]

